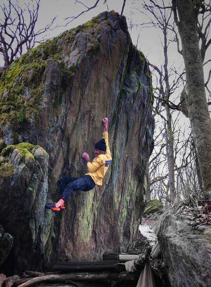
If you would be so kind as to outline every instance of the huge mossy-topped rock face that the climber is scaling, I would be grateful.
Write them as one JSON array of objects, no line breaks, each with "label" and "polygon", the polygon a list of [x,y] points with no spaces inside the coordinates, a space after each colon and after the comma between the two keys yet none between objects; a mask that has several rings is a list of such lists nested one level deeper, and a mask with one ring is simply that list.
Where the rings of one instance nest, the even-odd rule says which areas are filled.
[{"label": "huge mossy-topped rock face that the climber is scaling", "polygon": [[[9,164],[12,169],[6,181],[1,179],[4,188],[10,190],[16,176],[17,144],[39,144],[49,155],[48,161],[43,151],[45,168],[41,168],[48,186],[43,182],[42,190],[35,188],[36,195],[29,188],[34,158],[27,180],[24,173],[15,188],[17,198],[30,196],[31,209],[23,204],[17,213],[20,222],[27,215],[23,225],[33,230],[25,234],[26,240],[31,236],[31,243],[21,243],[19,232],[10,228],[12,221],[0,215],[0,224],[14,237],[10,258],[20,262],[26,249],[31,249],[33,260],[27,254],[21,268],[40,270],[52,258],[100,259],[104,252],[126,251],[136,237],[144,207],[153,94],[149,67],[132,46],[125,18],[104,12],[28,51],[1,74],[0,86],[0,146],[12,144],[13,149],[8,154],[8,147],[1,151],[1,168]],[[59,198],[61,176],[79,177],[86,172],[81,154],[86,151],[94,157],[93,146],[102,138],[105,116],[113,160],[103,186],[73,194],[64,212],[45,211],[46,196],[48,201]],[[18,268],[18,263],[14,265]]]}]

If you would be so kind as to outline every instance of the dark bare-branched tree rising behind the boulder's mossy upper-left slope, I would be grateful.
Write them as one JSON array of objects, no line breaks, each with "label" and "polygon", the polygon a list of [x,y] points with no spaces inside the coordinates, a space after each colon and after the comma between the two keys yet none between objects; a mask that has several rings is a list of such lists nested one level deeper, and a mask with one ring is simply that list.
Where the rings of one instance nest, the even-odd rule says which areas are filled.
[{"label": "dark bare-branched tree rising behind the boulder's mossy upper-left slope", "polygon": [[[38,12],[41,0],[28,1],[24,3],[24,8],[16,0],[7,0],[7,4],[0,4],[3,17],[0,19],[0,54],[3,56],[4,67],[6,69],[10,64],[22,55],[26,49],[33,48],[37,37],[51,29],[52,22],[45,28],[35,30],[38,19]],[[2,70],[1,69],[1,70]]]}]

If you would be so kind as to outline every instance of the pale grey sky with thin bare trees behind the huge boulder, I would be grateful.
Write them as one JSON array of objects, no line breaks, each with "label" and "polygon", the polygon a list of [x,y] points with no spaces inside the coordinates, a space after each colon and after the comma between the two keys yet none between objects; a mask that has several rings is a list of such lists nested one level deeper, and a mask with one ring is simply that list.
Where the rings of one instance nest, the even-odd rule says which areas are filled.
[{"label": "pale grey sky with thin bare trees behind the huge boulder", "polygon": [[[157,198],[162,202],[198,197],[204,191],[204,186],[210,189],[210,185],[205,184],[207,179],[206,176],[203,178],[205,172],[200,162],[202,157],[199,150],[203,152],[203,148],[199,148],[200,144],[196,146],[199,141],[197,136],[194,140],[193,123],[191,125],[187,117],[188,101],[185,93],[188,94],[188,83],[186,83],[188,77],[185,75],[184,49],[177,25],[178,18],[182,19],[182,16],[178,15],[181,18],[177,18],[175,14],[175,11],[180,11],[181,8],[177,2],[176,0],[4,0],[0,4],[2,70],[7,69],[13,60],[26,53],[27,49],[36,47],[64,30],[77,27],[105,10],[114,10],[126,17],[132,42],[143,52],[152,71],[155,148],[146,171],[149,178],[147,189],[148,200]],[[211,0],[187,0],[187,4],[193,9],[197,21],[206,101],[210,107]],[[204,113],[206,114],[200,110],[199,117]],[[210,150],[209,144],[207,147],[205,144],[203,146]],[[211,166],[209,160],[204,164]]]}]

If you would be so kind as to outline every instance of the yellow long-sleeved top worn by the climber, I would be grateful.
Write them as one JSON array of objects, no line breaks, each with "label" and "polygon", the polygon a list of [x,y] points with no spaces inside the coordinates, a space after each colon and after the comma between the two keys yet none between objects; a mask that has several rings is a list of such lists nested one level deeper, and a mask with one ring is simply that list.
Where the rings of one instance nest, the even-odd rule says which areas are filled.
[{"label": "yellow long-sleeved top worn by the climber", "polygon": [[103,132],[103,139],[106,142],[106,154],[100,154],[93,159],[90,163],[87,163],[88,173],[85,175],[90,175],[97,185],[102,185],[104,175],[108,169],[108,166],[112,160],[110,155],[110,149],[108,146],[108,133]]}]

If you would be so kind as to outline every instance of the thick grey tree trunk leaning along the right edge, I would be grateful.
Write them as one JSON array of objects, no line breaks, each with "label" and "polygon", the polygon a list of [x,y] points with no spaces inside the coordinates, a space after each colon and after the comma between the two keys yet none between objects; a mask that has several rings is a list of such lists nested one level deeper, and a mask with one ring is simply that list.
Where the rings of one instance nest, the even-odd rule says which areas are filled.
[{"label": "thick grey tree trunk leaning along the right edge", "polygon": [[[197,31],[199,5],[172,0],[183,46],[186,70],[185,101],[205,191],[211,190],[211,119],[205,94],[204,71]],[[177,20],[176,9],[179,15]]]}]

